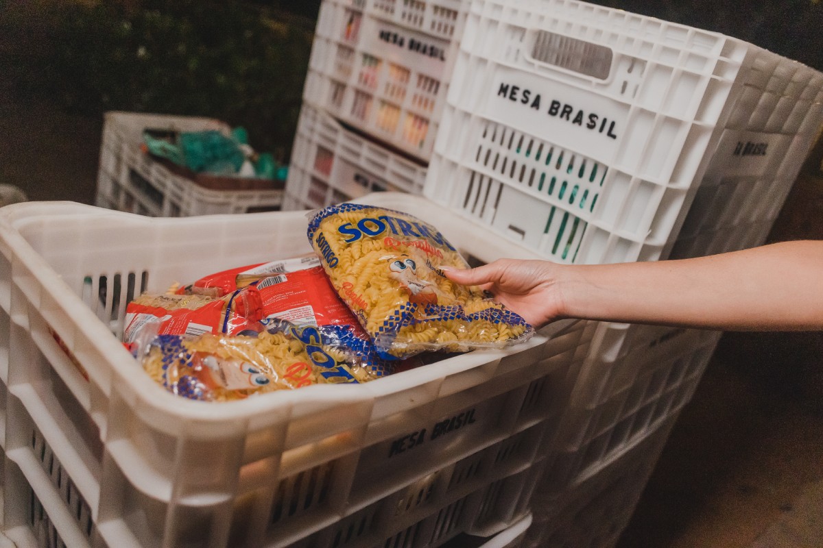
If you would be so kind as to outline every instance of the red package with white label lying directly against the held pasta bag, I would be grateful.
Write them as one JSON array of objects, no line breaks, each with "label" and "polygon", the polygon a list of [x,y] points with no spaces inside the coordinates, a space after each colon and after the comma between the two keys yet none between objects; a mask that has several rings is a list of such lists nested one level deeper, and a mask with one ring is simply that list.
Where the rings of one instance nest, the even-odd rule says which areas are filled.
[{"label": "red package with white label lying directly against the held pasta bag", "polygon": [[210,274],[179,289],[193,297],[221,295],[248,288],[258,291],[263,307],[263,325],[286,320],[295,325],[314,325],[324,336],[334,338],[360,359],[362,366],[378,376],[388,375],[393,362],[380,357],[370,337],[332,288],[320,261],[314,255],[276,260]]}]

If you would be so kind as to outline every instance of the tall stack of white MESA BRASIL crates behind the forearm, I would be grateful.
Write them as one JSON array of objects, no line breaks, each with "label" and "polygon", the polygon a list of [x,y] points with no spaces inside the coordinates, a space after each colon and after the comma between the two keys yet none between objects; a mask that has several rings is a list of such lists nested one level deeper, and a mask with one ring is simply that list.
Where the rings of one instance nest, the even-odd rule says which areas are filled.
[{"label": "tall stack of white MESA BRASIL crates behind the forearm", "polygon": [[[451,81],[425,196],[564,263],[762,243],[823,122],[817,71],[568,0],[472,2]],[[535,487],[533,546],[616,541],[630,513],[605,536],[554,520],[636,501],[610,478],[665,440],[718,336],[599,325]]]}]

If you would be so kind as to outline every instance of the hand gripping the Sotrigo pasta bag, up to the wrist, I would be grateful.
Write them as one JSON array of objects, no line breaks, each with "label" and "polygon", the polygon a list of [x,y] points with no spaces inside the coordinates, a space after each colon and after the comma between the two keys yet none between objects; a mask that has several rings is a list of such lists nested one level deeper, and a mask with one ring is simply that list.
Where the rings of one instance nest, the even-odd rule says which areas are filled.
[{"label": "hand gripping the Sotrigo pasta bag, up to the wrist", "polygon": [[560,317],[559,265],[546,260],[500,259],[476,269],[444,269],[446,277],[490,291],[497,302],[540,327]]}]

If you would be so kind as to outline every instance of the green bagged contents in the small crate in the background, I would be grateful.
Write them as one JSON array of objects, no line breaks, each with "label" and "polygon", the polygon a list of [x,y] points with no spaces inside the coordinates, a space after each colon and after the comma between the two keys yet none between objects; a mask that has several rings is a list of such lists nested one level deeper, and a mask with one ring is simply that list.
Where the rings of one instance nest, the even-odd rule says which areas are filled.
[{"label": "green bagged contents in the small crate in the background", "polygon": [[221,131],[174,131],[146,128],[142,150],[170,171],[212,190],[282,187],[288,168],[270,153],[249,145],[242,127]]}]

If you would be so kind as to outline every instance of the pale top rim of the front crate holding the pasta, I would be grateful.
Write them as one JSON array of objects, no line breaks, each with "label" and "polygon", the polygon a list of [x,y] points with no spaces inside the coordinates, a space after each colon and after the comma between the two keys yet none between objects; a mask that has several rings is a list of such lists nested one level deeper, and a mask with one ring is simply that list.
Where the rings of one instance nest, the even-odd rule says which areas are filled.
[{"label": "pale top rim of the front crate holding the pasta", "polygon": [[[256,215],[281,214],[281,212],[259,213]],[[304,212],[295,212],[303,215]],[[143,224],[151,223],[202,223],[204,217],[212,219],[224,217],[236,219],[236,215],[218,214],[200,217],[184,218],[153,218],[143,217],[120,211],[106,210],[91,205],[81,205],[75,202],[26,202],[8,205],[0,210],[0,246],[7,256],[15,255],[17,260],[26,265],[43,287],[62,288],[59,295],[52,295],[53,300],[63,311],[77,318],[83,325],[83,333],[91,343],[92,348],[107,357],[114,368],[114,375],[122,383],[128,383],[135,388],[132,404],[139,404],[154,412],[165,412],[184,420],[198,421],[198,423],[248,420],[249,417],[259,417],[261,413],[275,410],[292,410],[311,403],[332,400],[339,403],[365,403],[376,398],[397,394],[412,385],[421,385],[426,382],[442,381],[449,375],[467,371],[472,367],[480,366],[491,361],[499,361],[502,357],[514,354],[528,348],[534,348],[545,343],[548,338],[560,334],[574,325],[577,320],[561,320],[541,329],[525,343],[519,343],[501,349],[481,349],[456,357],[440,361],[432,366],[418,367],[411,371],[403,371],[388,375],[383,379],[374,380],[363,385],[346,386],[341,389],[337,385],[314,385],[300,390],[278,391],[277,396],[246,398],[235,402],[221,402],[219,404],[198,402],[180,398],[157,385],[148,375],[134,375],[135,361],[131,354],[111,334],[108,327],[86,306],[81,298],[67,286],[67,283],[53,271],[46,260],[37,253],[18,231],[18,227],[28,222],[36,222],[40,216],[49,216],[51,219],[59,217],[77,217],[80,215],[95,215],[116,219],[130,219]],[[58,333],[60,335],[60,333]],[[478,380],[478,382],[481,382]],[[435,396],[436,398],[436,396]],[[423,404],[425,402],[419,402]],[[137,407],[137,406],[136,406]],[[156,425],[161,431],[176,432],[170,424]]]}]

